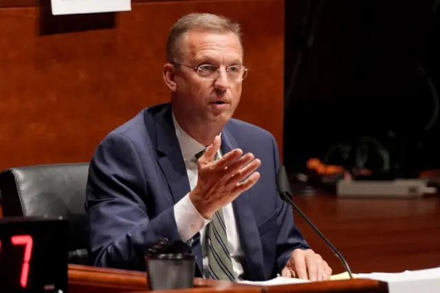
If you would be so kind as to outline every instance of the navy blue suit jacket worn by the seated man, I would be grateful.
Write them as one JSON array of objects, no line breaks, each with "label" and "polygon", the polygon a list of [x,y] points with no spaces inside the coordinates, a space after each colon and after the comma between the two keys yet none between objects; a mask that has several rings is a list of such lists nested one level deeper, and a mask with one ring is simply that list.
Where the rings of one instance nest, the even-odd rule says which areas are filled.
[{"label": "navy blue suit jacket worn by the seated man", "polygon": [[[173,213],[190,191],[175,134],[170,104],[142,110],[100,142],[91,160],[86,209],[89,253],[98,266],[145,270],[144,252],[190,252],[201,276],[199,233],[192,247],[181,241]],[[292,209],[278,196],[278,147],[272,134],[231,119],[223,128],[221,151],[240,147],[261,160],[260,180],[232,203],[245,279],[267,280],[285,266],[295,248],[308,248]]]}]

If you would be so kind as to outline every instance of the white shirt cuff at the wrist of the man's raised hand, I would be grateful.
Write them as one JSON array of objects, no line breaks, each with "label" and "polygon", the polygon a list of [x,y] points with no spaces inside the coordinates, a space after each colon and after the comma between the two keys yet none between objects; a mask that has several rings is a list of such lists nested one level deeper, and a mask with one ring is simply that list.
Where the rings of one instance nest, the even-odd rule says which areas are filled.
[{"label": "white shirt cuff at the wrist of the man's raised hand", "polygon": [[186,194],[174,205],[174,218],[182,241],[186,242],[197,234],[210,220],[205,219],[192,204],[190,194]]}]

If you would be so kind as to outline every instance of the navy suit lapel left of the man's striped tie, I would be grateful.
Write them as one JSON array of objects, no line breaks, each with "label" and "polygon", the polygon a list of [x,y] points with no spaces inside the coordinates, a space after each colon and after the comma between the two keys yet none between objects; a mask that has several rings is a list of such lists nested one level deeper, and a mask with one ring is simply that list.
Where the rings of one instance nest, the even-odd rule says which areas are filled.
[{"label": "navy suit lapel left of the man's striped tie", "polygon": [[[155,123],[157,152],[159,153],[158,162],[164,172],[175,204],[190,192],[190,183],[184,158],[181,155],[179,141],[177,140],[170,105],[167,105],[164,111],[157,114]],[[197,235],[193,237],[192,253],[196,256],[200,272],[203,272],[200,237]]]}]

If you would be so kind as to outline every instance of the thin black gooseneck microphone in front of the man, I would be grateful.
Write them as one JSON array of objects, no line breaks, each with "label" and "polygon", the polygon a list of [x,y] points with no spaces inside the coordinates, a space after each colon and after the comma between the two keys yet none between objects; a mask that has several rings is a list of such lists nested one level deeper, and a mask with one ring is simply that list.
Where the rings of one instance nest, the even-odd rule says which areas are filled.
[{"label": "thin black gooseneck microphone in front of the man", "polygon": [[280,169],[278,170],[277,180],[278,180],[278,193],[280,193],[281,199],[283,199],[285,202],[290,204],[294,208],[294,210],[296,210],[298,214],[300,214],[301,217],[303,217],[303,219],[307,221],[307,224],[309,224],[309,226],[311,226],[311,228],[315,230],[315,232],[322,238],[322,240],[324,240],[325,243],[327,243],[327,246],[329,246],[329,248],[336,254],[336,257],[340,259],[342,265],[344,265],[345,270],[349,273],[350,279],[353,279],[353,274],[351,273],[349,264],[347,263],[347,261],[345,261],[344,257],[342,257],[342,254],[335,248],[335,246],[333,246],[333,244],[331,244],[329,239],[327,239],[320,232],[320,230],[316,228],[316,226],[303,213],[303,211],[300,210],[300,208],[298,208],[298,206],[296,206],[296,204],[292,201],[292,191],[290,190],[290,184],[289,184],[289,180],[287,179],[285,166],[281,166]]}]

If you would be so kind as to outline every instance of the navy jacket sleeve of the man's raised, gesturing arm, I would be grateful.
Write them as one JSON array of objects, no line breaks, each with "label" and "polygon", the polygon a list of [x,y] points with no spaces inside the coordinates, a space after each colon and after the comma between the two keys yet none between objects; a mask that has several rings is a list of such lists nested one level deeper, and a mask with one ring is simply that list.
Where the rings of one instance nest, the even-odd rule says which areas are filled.
[{"label": "navy jacket sleeve of the man's raised, gesturing arm", "polygon": [[111,134],[91,160],[86,192],[90,228],[89,252],[94,265],[144,270],[148,248],[190,250],[181,241],[173,206],[148,218],[144,170],[129,138]]}]

